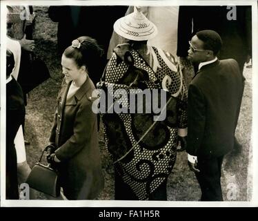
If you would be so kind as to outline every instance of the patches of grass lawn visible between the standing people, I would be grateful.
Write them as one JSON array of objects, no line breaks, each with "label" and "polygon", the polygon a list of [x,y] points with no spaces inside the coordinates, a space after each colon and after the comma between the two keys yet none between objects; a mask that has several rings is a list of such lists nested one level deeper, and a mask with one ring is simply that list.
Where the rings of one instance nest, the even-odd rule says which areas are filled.
[{"label": "patches of grass lawn visible between the standing people", "polygon": [[[34,30],[34,40],[37,45],[36,54],[46,61],[51,78],[30,92],[28,106],[26,106],[25,138],[30,141],[30,145],[26,146],[30,166],[39,160],[41,150],[48,144],[57,93],[63,78],[60,65],[61,57],[57,55],[57,23],[48,18],[47,7],[35,6],[34,12],[37,13]],[[252,146],[250,146],[252,69],[245,69],[244,75],[246,76],[246,87],[237,126],[237,138],[244,148],[239,155],[228,154],[225,157],[222,170],[221,183],[224,200],[228,201],[246,201],[251,198],[252,171],[249,168],[252,156]],[[99,137],[106,184],[98,199],[114,200],[112,161],[101,141],[103,133],[100,132]],[[200,197],[199,184],[195,175],[188,169],[186,152],[178,153],[177,162],[168,179],[168,200],[197,201]],[[46,199],[46,196],[37,192],[37,198]]]}]

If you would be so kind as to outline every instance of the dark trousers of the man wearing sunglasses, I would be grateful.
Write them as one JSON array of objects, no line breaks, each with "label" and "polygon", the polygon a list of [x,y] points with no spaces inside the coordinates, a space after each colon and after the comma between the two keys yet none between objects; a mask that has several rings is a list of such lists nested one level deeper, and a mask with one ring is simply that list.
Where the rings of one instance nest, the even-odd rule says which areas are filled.
[{"label": "dark trousers of the man wearing sunglasses", "polygon": [[220,180],[223,157],[197,157],[200,172],[195,175],[201,187],[201,201],[223,201]]}]

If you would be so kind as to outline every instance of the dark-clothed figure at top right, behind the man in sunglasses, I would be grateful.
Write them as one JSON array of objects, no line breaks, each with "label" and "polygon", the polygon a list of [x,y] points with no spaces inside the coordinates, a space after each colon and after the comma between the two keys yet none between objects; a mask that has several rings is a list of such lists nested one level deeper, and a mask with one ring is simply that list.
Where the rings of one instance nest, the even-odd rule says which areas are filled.
[{"label": "dark-clothed figure at top right, behind the man in sunglasses", "polygon": [[[180,6],[177,56],[187,57],[188,41],[192,35],[206,29],[218,32],[224,43],[217,57],[235,59],[243,74],[244,64],[252,55],[251,6]],[[193,63],[197,71],[198,62]],[[234,151],[241,152],[241,144],[236,138]]]}]

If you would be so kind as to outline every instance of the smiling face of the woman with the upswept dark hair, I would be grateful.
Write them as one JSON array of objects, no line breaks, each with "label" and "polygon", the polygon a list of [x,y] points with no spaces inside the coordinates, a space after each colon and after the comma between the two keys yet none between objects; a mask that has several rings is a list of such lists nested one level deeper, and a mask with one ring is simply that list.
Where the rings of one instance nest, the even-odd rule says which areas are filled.
[{"label": "smiling face of the woman with the upswept dark hair", "polygon": [[76,81],[81,77],[81,68],[77,66],[74,59],[62,55],[61,66],[63,69],[63,75],[66,77],[66,81]]}]

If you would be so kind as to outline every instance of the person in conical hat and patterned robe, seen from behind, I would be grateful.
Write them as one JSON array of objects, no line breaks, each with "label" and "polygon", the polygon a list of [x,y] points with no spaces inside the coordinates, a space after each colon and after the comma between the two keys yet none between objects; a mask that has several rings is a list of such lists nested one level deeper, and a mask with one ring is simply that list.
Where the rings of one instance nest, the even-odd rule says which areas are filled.
[{"label": "person in conical hat and patterned robe, seen from behind", "polygon": [[[157,28],[137,8],[118,19],[114,30],[126,43],[114,49],[99,88],[105,92],[101,99],[111,97],[113,101],[105,102],[102,119],[106,146],[115,166],[115,200],[167,200],[166,184],[175,164],[177,143],[180,140],[185,144],[187,135],[183,75],[174,56],[147,45]],[[154,117],[161,115],[154,110],[130,112],[133,105],[143,106],[147,98],[142,104],[131,104],[116,94],[118,89],[126,91],[128,97],[157,89],[160,96],[148,101],[152,107],[161,104],[165,92],[166,105],[161,110],[166,111],[165,119],[155,121]],[[115,106],[123,111],[116,111]]]}]

